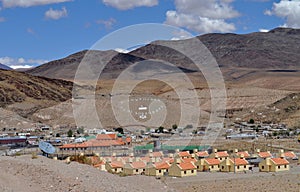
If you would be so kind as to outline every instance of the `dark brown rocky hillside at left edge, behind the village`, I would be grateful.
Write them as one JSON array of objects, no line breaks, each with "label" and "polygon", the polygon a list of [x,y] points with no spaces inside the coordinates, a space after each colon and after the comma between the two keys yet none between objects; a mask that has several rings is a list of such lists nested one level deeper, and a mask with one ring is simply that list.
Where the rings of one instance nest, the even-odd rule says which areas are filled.
[{"label": "dark brown rocky hillside at left edge, behind the village", "polygon": [[72,97],[73,83],[0,70],[0,107],[28,117]]}]

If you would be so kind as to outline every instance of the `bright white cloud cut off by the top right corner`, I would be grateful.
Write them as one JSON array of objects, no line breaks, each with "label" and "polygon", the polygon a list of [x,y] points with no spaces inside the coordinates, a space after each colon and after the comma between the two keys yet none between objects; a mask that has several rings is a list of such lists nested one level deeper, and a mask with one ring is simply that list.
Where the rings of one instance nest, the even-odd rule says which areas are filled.
[{"label": "bright white cloud cut off by the top right corner", "polygon": [[283,18],[284,27],[300,28],[300,0],[281,0],[273,3],[272,9],[266,10],[265,14]]}]

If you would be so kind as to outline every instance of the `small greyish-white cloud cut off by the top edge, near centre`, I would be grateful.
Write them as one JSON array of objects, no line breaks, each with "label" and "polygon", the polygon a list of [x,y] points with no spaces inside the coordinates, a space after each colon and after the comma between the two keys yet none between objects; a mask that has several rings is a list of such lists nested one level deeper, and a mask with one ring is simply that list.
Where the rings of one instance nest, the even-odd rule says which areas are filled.
[{"label": "small greyish-white cloud cut off by the top edge, near centre", "polygon": [[158,5],[158,0],[102,0],[105,5],[120,9],[128,10],[135,7],[153,7]]}]

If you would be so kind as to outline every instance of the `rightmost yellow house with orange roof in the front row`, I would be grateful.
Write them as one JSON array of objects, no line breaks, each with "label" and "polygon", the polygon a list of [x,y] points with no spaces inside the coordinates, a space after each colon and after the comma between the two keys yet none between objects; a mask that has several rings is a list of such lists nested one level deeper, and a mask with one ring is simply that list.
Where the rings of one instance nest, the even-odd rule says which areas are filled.
[{"label": "rightmost yellow house with orange roof in the front row", "polygon": [[289,162],[283,156],[266,158],[259,163],[259,171],[261,172],[288,171],[289,169]]}]

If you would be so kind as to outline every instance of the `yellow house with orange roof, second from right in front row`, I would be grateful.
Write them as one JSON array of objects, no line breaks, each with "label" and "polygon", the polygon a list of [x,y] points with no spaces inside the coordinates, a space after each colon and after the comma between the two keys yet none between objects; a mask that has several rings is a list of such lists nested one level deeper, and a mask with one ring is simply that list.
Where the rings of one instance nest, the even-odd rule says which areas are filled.
[{"label": "yellow house with orange roof, second from right in front row", "polygon": [[248,171],[249,162],[243,157],[240,158],[227,158],[220,163],[221,172],[239,172]]}]

